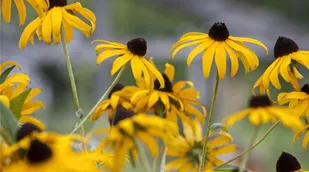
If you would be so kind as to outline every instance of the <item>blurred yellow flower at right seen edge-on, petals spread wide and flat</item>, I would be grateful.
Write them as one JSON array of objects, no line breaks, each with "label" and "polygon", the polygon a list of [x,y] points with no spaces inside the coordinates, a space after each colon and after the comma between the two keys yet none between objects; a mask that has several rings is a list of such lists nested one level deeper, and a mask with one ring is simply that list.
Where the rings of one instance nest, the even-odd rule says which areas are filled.
[{"label": "blurred yellow flower at right seen edge-on, petals spread wide and flat", "polygon": [[281,120],[289,128],[301,128],[303,126],[301,120],[291,114],[292,111],[289,108],[272,106],[267,96],[253,96],[248,109],[230,115],[223,120],[223,123],[231,127],[235,122],[247,116],[255,126]]}]

